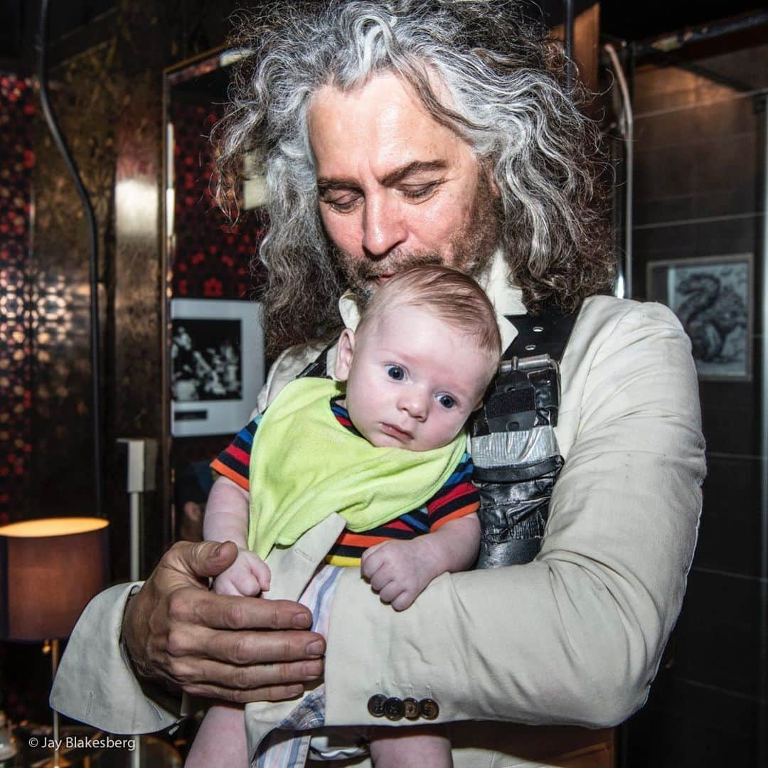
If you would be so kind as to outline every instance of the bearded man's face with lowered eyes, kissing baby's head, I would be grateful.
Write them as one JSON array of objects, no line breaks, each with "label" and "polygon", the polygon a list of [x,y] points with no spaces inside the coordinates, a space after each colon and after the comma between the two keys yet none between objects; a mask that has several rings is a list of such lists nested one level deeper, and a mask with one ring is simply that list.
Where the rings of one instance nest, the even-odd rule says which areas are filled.
[{"label": "bearded man's face with lowered eyes, kissing baby's head", "polygon": [[350,286],[370,296],[410,266],[477,274],[498,240],[488,174],[394,74],[310,104],[320,217]]}]

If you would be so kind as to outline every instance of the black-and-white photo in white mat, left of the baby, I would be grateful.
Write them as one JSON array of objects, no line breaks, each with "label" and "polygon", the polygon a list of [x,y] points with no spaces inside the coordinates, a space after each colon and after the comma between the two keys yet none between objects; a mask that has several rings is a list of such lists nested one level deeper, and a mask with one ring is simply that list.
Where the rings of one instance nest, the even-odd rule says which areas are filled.
[{"label": "black-and-white photo in white mat, left of the baby", "polygon": [[177,437],[240,431],[264,382],[259,304],[170,302],[170,432]]}]

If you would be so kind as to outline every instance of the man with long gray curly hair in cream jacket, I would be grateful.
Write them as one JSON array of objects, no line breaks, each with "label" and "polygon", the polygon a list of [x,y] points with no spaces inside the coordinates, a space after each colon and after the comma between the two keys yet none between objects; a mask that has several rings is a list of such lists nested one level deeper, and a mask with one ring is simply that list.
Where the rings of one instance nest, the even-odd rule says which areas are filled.
[{"label": "man with long gray curly hair in cream jacket", "polygon": [[[472,423],[480,567],[402,612],[346,568],[323,637],[298,599],[339,515],[270,554],[269,600],[205,588],[231,542],[182,543],[141,588],[94,598],[52,703],[137,733],[177,721],[161,687],[247,702],[243,764],[287,729],[313,733],[291,765],[307,750],[363,765],[370,728],[425,722],[448,725],[456,766],[611,764],[610,734],[564,726],[609,727],[647,697],[693,556],[703,440],[680,324],[608,295],[598,131],[558,46],[524,4],[492,0],[291,2],[239,26],[250,55],[217,193],[236,200],[257,154],[276,356],[258,408],[300,372],[332,373],[328,340],[392,275],[475,276],[505,349]],[[240,487],[249,434],[218,460]]]}]

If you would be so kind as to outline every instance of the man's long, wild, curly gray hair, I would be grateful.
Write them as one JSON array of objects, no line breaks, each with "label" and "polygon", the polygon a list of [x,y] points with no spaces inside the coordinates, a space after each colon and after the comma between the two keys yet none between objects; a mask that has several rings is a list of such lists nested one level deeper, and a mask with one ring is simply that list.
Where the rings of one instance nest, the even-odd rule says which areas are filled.
[{"label": "man's long, wild, curly gray hair", "polygon": [[[528,310],[570,311],[609,290],[600,134],[564,87],[564,57],[525,3],[501,0],[326,0],[241,14],[233,43],[251,51],[230,85],[214,137],[217,197],[232,208],[242,157],[266,169],[270,229],[260,248],[271,353],[335,333],[346,289],[319,219],[307,129],[323,85],[355,88],[372,73],[407,81],[432,117],[468,142],[500,190],[499,237]],[[449,93],[430,85],[436,72]]]}]

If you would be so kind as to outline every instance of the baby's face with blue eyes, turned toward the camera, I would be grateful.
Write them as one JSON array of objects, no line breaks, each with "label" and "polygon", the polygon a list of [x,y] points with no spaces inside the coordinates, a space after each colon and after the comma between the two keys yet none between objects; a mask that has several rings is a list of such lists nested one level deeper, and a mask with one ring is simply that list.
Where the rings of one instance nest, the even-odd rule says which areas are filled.
[{"label": "baby's face with blue eyes, turned toward the camera", "polygon": [[412,306],[339,339],[349,418],[372,445],[429,451],[458,435],[495,361],[475,340]]}]

